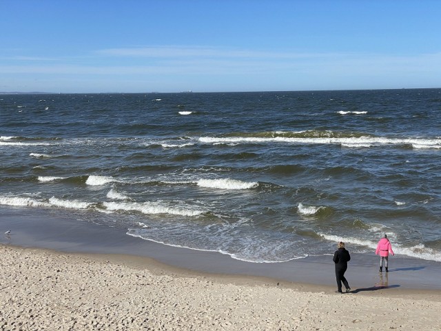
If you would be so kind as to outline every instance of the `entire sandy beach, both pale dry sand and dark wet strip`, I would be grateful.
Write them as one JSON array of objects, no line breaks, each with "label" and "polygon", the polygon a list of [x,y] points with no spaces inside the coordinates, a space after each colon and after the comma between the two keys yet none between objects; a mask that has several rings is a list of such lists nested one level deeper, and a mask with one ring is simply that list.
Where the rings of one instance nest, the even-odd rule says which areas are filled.
[{"label": "entire sandy beach, both pale dry sand and dark wet strip", "polygon": [[45,216],[0,218],[1,330],[440,328],[439,263],[393,257],[379,274],[354,254],[337,294],[331,257],[246,263]]}]

